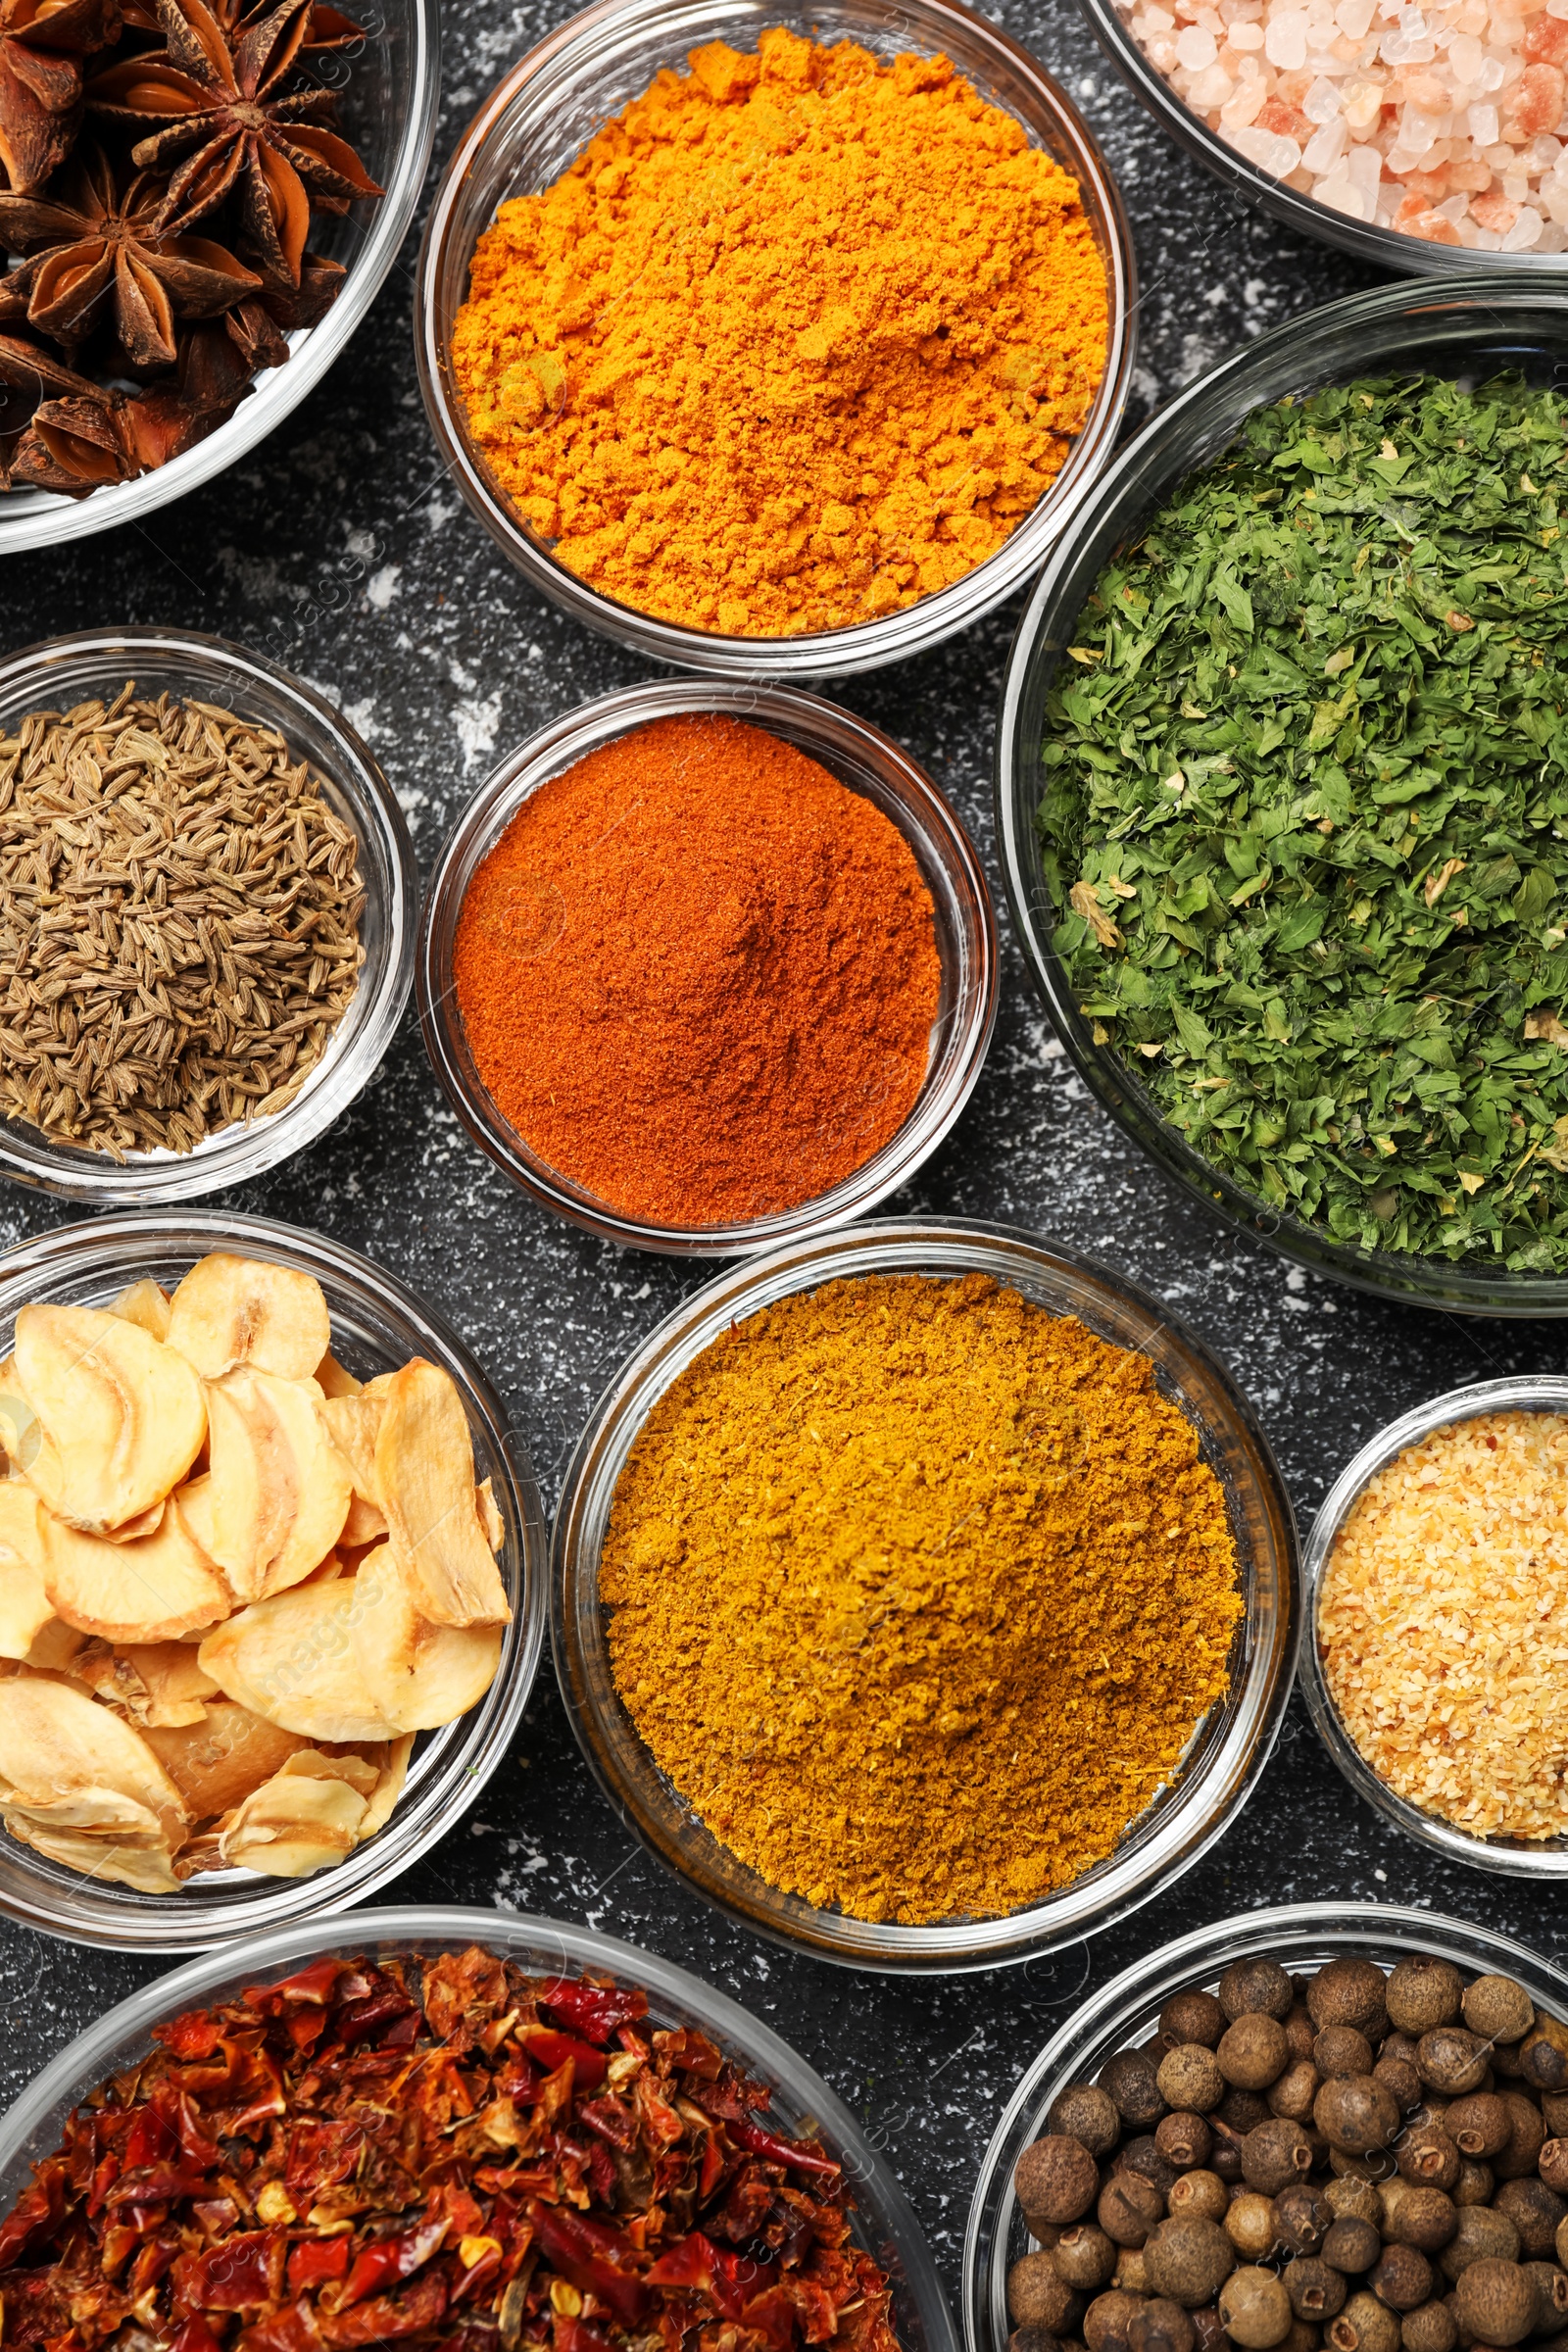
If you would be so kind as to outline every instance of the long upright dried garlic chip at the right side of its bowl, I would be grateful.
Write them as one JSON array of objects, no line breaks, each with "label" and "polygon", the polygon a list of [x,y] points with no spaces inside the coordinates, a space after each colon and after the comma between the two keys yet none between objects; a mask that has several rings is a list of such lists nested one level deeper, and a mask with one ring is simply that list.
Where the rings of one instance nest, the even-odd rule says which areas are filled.
[{"label": "long upright dried garlic chip at the right side of its bowl", "polygon": [[468,1414],[451,1374],[414,1357],[393,1374],[376,1437],[376,1491],[409,1583],[435,1625],[510,1618],[475,1501]]}]

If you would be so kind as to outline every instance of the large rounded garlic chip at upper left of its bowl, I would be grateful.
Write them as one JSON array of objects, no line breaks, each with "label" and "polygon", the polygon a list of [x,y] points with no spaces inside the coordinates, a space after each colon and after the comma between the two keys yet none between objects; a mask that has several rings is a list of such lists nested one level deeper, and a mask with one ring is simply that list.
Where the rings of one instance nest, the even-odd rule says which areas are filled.
[{"label": "large rounded garlic chip at upper left of its bowl", "polygon": [[2,1442],[56,1519],[85,1534],[162,1503],[202,1449],[195,1371],[120,1315],[21,1308],[16,1378],[35,1423]]}]

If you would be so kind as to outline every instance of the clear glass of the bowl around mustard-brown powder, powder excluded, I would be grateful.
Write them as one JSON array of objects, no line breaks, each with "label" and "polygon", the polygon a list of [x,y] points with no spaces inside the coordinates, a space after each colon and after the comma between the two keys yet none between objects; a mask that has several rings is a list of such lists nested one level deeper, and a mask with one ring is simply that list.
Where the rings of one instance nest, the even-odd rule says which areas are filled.
[{"label": "clear glass of the bowl around mustard-brown powder, powder excluded", "polygon": [[[1248,1475],[1255,1479],[1272,1519],[1279,1552],[1281,1606],[1269,1649],[1258,1651],[1241,1684],[1248,1700],[1246,1719],[1232,1726],[1206,1769],[1190,1783],[1185,1797],[1171,1804],[1164,1823],[1135,1851],[1121,1853],[1119,1860],[1112,1858],[1098,1872],[1077,1879],[1048,1903],[1027,1912],[1011,1912],[1001,1919],[961,1926],[882,1926],[865,1919],[842,1919],[792,1896],[780,1896],[752,1872],[745,1872],[745,1896],[741,1896],[736,1889],[724,1886],[703,1865],[701,1856],[693,1858],[686,1851],[672,1851],[658,1835],[637,1778],[623,1776],[614,1748],[599,1729],[599,1703],[592,1679],[585,1672],[576,1632],[578,1588],[585,1578],[592,1578],[597,1585],[597,1552],[588,1555],[588,1534],[581,1522],[590,1489],[599,1475],[602,1456],[614,1458],[623,1454],[621,1435],[642,1428],[670,1378],[684,1369],[691,1355],[698,1352],[698,1345],[708,1343],[701,1338],[703,1331],[717,1336],[724,1324],[738,1322],[757,1305],[783,1294],[816,1289],[835,1277],[910,1272],[922,1263],[933,1265],[933,1261],[940,1261],[938,1270],[945,1277],[980,1268],[1001,1282],[1013,1279],[1023,1284],[1027,1284],[1030,1272],[1048,1275],[1065,1268],[1072,1277],[1100,1289],[1103,1296],[1114,1298],[1119,1305],[1135,1308],[1171,1334],[1215,1378],[1232,1416],[1232,1430],[1246,1446]],[[630,1437],[625,1444],[630,1444]],[[1298,1632],[1300,1585],[1291,1501],[1253,1406],[1229,1378],[1220,1357],[1187,1322],[1171,1315],[1164,1301],[1157,1301],[1140,1284],[1103,1265],[1086,1251],[976,1218],[877,1218],[865,1225],[792,1242],[766,1258],[750,1258],[717,1275],[703,1289],[691,1291],[632,1350],[595,1404],[567,1465],[555,1512],[550,1548],[550,1646],[555,1653],[555,1675],[578,1745],[618,1818],[665,1870],[684,1879],[715,1910],[741,1919],[755,1936],[764,1936],[795,1952],[809,1952],[813,1959],[830,1959],[865,1971],[961,1973],[1020,1964],[1079,1936],[1098,1933],[1173,1884],[1229,1828],[1258,1785],[1291,1696]],[[639,1778],[642,1783],[661,1780],[646,1748],[639,1748]],[[736,1865],[738,1872],[743,1867]]]}]

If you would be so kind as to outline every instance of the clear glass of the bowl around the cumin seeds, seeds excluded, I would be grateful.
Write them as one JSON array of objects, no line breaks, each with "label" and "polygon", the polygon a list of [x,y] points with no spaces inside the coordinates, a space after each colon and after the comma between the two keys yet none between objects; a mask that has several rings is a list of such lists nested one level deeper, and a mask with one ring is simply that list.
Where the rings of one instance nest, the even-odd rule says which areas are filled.
[{"label": "clear glass of the bowl around the cumin seeds, seeds excluded", "polygon": [[118,1164],[106,1152],[0,1117],[0,1171],[94,1207],[197,1200],[247,1183],[315,1143],[376,1073],[397,1033],[414,978],[418,903],[409,828],[371,753],[313,687],[242,644],[179,628],[89,628],[28,644],[0,661],[0,734],[28,710],[113,701],[127,677],[146,696],[195,696],[277,727],[292,750],[310,760],[331,809],[360,840],[364,964],[348,1011],[294,1101],[249,1124],[223,1127],[190,1152],[150,1150]]}]

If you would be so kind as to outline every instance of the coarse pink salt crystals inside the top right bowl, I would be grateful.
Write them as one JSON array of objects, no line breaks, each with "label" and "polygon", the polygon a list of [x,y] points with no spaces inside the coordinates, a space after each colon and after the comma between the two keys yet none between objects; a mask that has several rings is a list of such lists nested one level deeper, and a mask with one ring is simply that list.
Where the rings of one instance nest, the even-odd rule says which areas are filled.
[{"label": "coarse pink salt crystals inside the top right bowl", "polygon": [[1117,0],[1199,120],[1349,221],[1568,247],[1568,19],[1512,0]]}]

